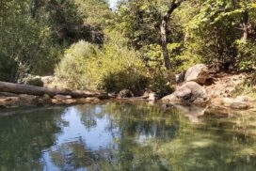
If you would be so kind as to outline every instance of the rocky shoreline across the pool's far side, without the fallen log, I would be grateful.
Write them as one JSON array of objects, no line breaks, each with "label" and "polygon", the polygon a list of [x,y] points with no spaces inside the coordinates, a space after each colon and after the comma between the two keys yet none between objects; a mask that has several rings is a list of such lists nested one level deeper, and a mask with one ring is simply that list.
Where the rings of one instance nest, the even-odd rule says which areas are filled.
[{"label": "rocky shoreline across the pool's far side, without the fallen log", "polygon": [[[219,74],[219,73],[218,73]],[[223,76],[224,75],[224,76]],[[222,74],[213,76],[211,70],[203,64],[198,64],[176,76],[176,90],[162,98],[164,105],[198,106],[216,113],[228,110],[256,111],[256,102],[246,96],[232,97],[235,87],[248,79],[244,74]],[[0,91],[0,108],[17,108],[44,105],[72,105],[88,102],[99,102],[104,99],[156,101],[155,93],[150,92],[142,97],[133,97],[133,93],[124,89],[118,95],[96,95],[91,97],[74,98],[69,95],[56,96],[15,94]],[[222,111],[222,112],[221,112]],[[211,112],[211,113],[212,113]]]}]

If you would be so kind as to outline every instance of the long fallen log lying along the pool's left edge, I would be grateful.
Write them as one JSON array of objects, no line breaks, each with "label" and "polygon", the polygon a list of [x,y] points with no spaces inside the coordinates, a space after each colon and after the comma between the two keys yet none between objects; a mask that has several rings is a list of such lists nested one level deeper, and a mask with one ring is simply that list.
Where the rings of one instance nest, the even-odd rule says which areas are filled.
[{"label": "long fallen log lying along the pool's left edge", "polygon": [[72,96],[72,98],[90,98],[97,97],[99,99],[109,99],[110,97],[107,94],[98,94],[98,93],[85,93],[79,91],[71,90],[58,90],[50,89],[34,85],[20,85],[7,82],[0,82],[0,91],[9,92],[15,94],[28,94],[35,96],[43,96],[44,94],[54,97],[56,95],[65,95]]}]

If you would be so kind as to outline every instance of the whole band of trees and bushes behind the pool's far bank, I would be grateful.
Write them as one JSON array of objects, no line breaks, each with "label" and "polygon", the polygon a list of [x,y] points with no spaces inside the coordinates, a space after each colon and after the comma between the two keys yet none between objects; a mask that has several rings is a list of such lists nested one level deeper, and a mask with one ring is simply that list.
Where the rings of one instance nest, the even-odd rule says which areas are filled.
[{"label": "whole band of trees and bushes behind the pool's far bank", "polygon": [[162,89],[199,62],[254,71],[255,38],[255,0],[3,0],[0,80],[56,70],[75,88]]}]

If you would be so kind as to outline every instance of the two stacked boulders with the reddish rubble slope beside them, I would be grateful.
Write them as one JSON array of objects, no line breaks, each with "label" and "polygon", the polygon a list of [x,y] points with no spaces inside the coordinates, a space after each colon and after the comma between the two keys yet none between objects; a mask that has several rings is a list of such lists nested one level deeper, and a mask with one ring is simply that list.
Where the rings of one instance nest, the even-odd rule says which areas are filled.
[{"label": "two stacked boulders with the reddish rubble slope beside them", "polygon": [[[181,76],[184,75],[184,78]],[[221,110],[224,108],[235,110],[247,110],[253,108],[248,97],[239,96],[236,99],[230,97],[231,92],[243,81],[243,75],[224,75],[217,79],[216,83],[207,85],[209,69],[203,64],[195,65],[177,75],[179,82],[184,83],[176,90],[162,99],[165,103],[172,104],[196,104],[200,106],[208,105],[211,110]],[[209,110],[208,110],[209,111]],[[212,112],[209,112],[211,114]]]}]

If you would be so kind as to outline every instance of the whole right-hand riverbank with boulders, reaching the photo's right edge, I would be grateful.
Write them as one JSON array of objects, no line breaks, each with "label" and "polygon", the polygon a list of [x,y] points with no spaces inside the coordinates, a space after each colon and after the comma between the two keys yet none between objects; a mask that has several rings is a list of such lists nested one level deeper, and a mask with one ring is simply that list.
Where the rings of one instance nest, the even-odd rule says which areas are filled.
[{"label": "whole right-hand riverbank with boulders, reaching the photo's right edge", "polygon": [[216,72],[198,64],[176,77],[176,90],[162,99],[165,103],[256,111],[256,101],[249,96],[253,88],[248,93],[243,87],[252,82],[252,74]]}]

